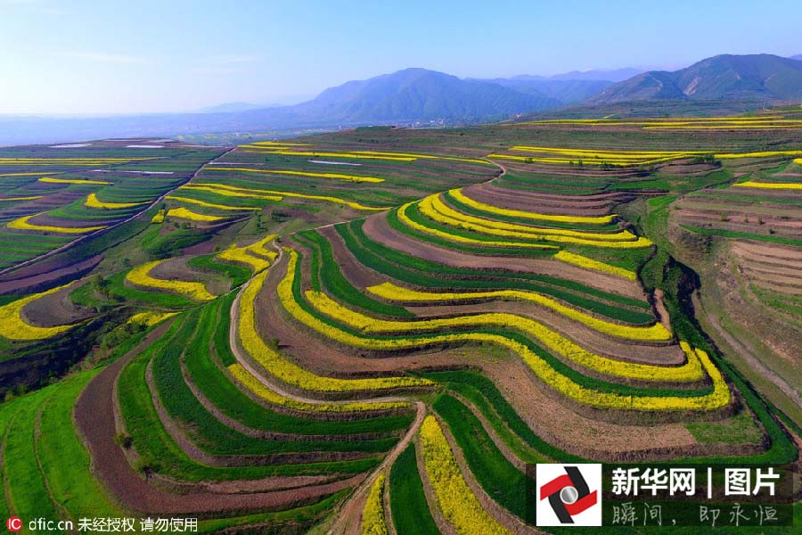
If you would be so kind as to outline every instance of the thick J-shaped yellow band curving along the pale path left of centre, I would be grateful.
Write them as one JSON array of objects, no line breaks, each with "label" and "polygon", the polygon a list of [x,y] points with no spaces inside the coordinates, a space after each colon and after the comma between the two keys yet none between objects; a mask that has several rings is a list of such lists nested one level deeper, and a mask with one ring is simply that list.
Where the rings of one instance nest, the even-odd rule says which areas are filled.
[{"label": "thick J-shaped yellow band curving along the pale path left of centre", "polygon": [[[294,273],[298,255],[294,251],[290,251],[290,255],[288,269],[290,273]],[[264,367],[270,374],[278,377],[282,382],[307,391],[323,392],[376,391],[432,384],[428,379],[408,376],[375,377],[370,379],[323,377],[321,375],[315,375],[287,358],[284,358],[277,350],[272,349],[262,340],[256,328],[254,300],[256,300],[258,292],[265,284],[266,277],[266,271],[253,277],[241,293],[240,320],[238,325],[240,341],[242,343],[242,348],[258,362],[259,366]],[[286,301],[288,296],[291,302],[295,302],[292,300],[291,278],[284,277],[282,283],[279,284],[278,294],[282,302]],[[303,311],[300,312],[303,313]],[[299,311],[293,310],[291,313],[295,316],[299,314]],[[306,318],[303,314],[299,314],[299,316]],[[302,323],[304,322],[302,321]]]}]

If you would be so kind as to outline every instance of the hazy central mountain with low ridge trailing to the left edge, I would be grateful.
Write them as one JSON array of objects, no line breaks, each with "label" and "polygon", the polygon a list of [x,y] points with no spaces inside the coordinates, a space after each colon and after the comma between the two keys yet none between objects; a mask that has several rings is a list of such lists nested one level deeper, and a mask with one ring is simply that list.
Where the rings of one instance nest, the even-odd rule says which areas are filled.
[{"label": "hazy central mountain with low ridge trailing to the left edge", "polygon": [[467,124],[559,106],[560,100],[531,88],[519,91],[434,70],[406,69],[330,87],[310,101],[291,106],[253,108],[248,103],[229,103],[196,113],[81,119],[0,116],[0,144],[110,136],[298,132],[374,124]]}]

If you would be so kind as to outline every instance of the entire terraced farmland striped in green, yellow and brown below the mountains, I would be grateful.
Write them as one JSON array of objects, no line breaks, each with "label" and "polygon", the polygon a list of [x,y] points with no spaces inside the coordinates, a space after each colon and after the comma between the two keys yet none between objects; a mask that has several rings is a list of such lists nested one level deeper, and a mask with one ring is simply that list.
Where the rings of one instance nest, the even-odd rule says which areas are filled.
[{"label": "entire terraced farmland striped in green, yellow and brown below the mountains", "polygon": [[529,464],[796,460],[780,115],[4,150],[55,169],[3,193],[0,514],[535,533]]}]

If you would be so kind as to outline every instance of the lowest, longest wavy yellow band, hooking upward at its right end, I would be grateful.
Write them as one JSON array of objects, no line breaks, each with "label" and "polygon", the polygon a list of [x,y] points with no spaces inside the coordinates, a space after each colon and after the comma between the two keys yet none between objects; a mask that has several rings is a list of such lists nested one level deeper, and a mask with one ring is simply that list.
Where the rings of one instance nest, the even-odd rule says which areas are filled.
[{"label": "lowest, longest wavy yellow band, hooking upward at its right end", "polygon": [[[426,338],[386,338],[386,339],[376,339],[366,337],[364,335],[356,335],[353,333],[347,333],[342,329],[335,327],[333,325],[329,325],[322,320],[318,319],[315,316],[309,314],[306,310],[302,309],[295,301],[294,295],[292,294],[292,282],[294,280],[294,271],[295,271],[295,263],[298,259],[298,254],[295,251],[285,250],[291,255],[290,266],[288,267],[287,275],[284,276],[282,282],[279,284],[278,287],[278,295],[279,300],[282,302],[282,306],[286,309],[292,317],[295,317],[301,324],[307,325],[308,327],[314,329],[318,333],[323,334],[324,336],[331,338],[337,342],[344,343],[346,345],[369,349],[369,350],[407,350],[413,348],[422,348],[426,347],[427,345],[436,345],[436,344],[444,344],[444,343],[454,343],[454,342],[474,342],[474,343],[493,343],[500,347],[506,348],[507,350],[511,350],[517,353],[520,358],[529,366],[529,368],[538,376],[540,379],[551,386],[556,391],[561,392],[561,394],[565,395],[570,399],[574,399],[579,403],[585,403],[587,405],[592,405],[593,407],[604,407],[604,408],[620,408],[620,409],[632,409],[632,410],[644,410],[644,411],[663,411],[663,410],[710,410],[715,408],[725,407],[730,402],[730,391],[727,384],[724,382],[724,378],[722,377],[721,373],[716,369],[716,366],[708,358],[707,353],[700,350],[693,351],[693,354],[696,358],[692,358],[690,354],[690,346],[687,344],[683,345],[683,350],[688,348],[688,363],[682,366],[683,374],[692,375],[695,374],[693,369],[697,366],[701,366],[705,372],[707,372],[708,376],[713,382],[713,391],[707,395],[703,396],[696,396],[696,397],[675,397],[675,396],[627,396],[624,394],[618,394],[615,392],[605,392],[605,391],[594,391],[592,389],[586,388],[581,384],[578,384],[571,380],[566,375],[561,374],[557,370],[555,370],[551,365],[548,364],[541,358],[535,351],[530,350],[526,345],[523,343],[517,342],[508,338],[506,336],[500,334],[490,334],[490,333],[450,333],[450,334],[435,334]],[[309,295],[309,292],[307,292]],[[318,299],[318,295],[315,295],[315,292],[312,293],[312,297],[318,301],[318,304],[321,304],[323,301],[326,301],[326,307],[329,309],[321,310],[323,314],[336,318],[339,321],[345,321],[346,317],[342,316],[342,310],[339,303],[333,302],[329,300],[325,295],[320,294],[320,298]],[[330,306],[331,303],[331,306]],[[355,313],[346,309],[348,313],[348,317],[351,317]],[[511,316],[511,315],[510,315]],[[503,319],[499,319],[494,317],[492,321],[503,322],[503,326],[515,326],[516,328],[518,325],[511,325],[510,319],[516,317],[505,317]],[[459,319],[459,318],[457,318]],[[471,317],[471,320],[474,320],[475,317]],[[381,321],[381,320],[374,320],[373,318],[368,318],[370,322],[373,321]],[[447,321],[447,320],[438,320],[438,321]],[[366,324],[364,321],[360,321],[358,317],[355,319],[355,323],[357,325],[370,325]],[[421,326],[421,323],[416,323],[416,327]],[[542,325],[541,325],[542,326]],[[359,327],[357,327],[359,328]],[[397,328],[393,330],[397,331]],[[554,341],[550,341],[554,343]],[[564,348],[569,348],[569,346],[563,346]],[[588,353],[587,351],[579,348],[579,350]],[[591,366],[600,366],[598,360],[595,359],[596,356],[593,356],[593,361],[588,362]],[[572,355],[572,358],[582,358],[582,354],[579,355]],[[698,360],[699,364],[695,363],[694,361]],[[615,361],[615,366],[611,366],[612,371],[619,371],[622,369],[628,368],[628,370],[637,370],[638,368],[642,368],[642,366],[648,365],[633,365],[628,363],[622,363]],[[675,371],[672,371],[675,368],[672,367],[660,367],[660,366],[649,366],[652,370],[659,370],[661,374],[667,374],[668,376],[673,376]],[[625,373],[628,373],[628,370]],[[634,372],[638,376],[642,374],[642,372]],[[655,380],[657,379],[653,374],[648,374],[648,379]]]}]

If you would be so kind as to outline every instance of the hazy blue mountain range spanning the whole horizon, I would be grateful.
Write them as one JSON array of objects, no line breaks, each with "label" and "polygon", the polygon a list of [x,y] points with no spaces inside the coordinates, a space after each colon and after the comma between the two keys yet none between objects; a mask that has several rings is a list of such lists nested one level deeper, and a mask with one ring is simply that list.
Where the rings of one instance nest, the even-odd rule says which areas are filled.
[{"label": "hazy blue mountain range spanning the whole horizon", "polygon": [[802,55],[718,55],[675,70],[573,71],[552,77],[457,78],[405,69],[330,87],[305,103],[228,103],[195,113],[102,118],[0,116],[0,144],[109,136],[291,132],[362,125],[454,125],[509,119],[569,105],[634,101],[802,100]]}]

